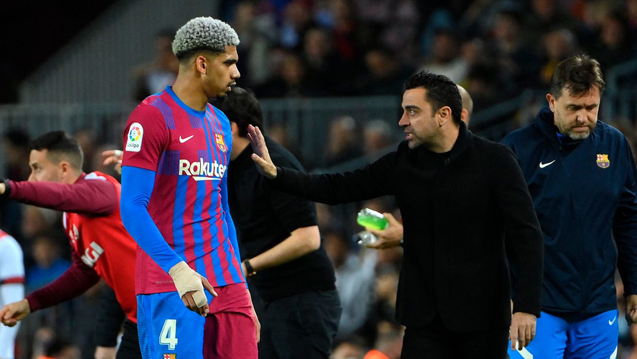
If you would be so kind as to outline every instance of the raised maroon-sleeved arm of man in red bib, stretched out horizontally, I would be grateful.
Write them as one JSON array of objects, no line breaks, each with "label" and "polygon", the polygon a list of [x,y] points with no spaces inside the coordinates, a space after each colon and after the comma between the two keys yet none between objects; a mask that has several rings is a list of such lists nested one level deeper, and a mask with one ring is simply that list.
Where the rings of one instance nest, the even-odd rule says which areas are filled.
[{"label": "raised maroon-sleeved arm of man in red bib, stretched out horizontally", "polygon": [[[117,190],[113,183],[95,178],[72,185],[56,182],[9,181],[8,197],[34,206],[80,213],[82,215],[110,215],[117,209]],[[0,195],[4,194],[0,183]]]}]

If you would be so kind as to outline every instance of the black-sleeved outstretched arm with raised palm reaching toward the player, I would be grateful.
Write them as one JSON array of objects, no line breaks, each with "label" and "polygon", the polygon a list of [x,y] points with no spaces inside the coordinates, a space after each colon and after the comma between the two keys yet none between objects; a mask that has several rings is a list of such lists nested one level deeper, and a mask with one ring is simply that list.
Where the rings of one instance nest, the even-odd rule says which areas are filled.
[{"label": "black-sleeved outstretched arm with raised palm reaching toward the player", "polygon": [[248,138],[254,150],[252,160],[261,174],[273,180],[273,188],[276,190],[332,205],[392,194],[395,153],[389,153],[373,164],[353,172],[309,174],[276,167],[257,127],[248,125]]}]

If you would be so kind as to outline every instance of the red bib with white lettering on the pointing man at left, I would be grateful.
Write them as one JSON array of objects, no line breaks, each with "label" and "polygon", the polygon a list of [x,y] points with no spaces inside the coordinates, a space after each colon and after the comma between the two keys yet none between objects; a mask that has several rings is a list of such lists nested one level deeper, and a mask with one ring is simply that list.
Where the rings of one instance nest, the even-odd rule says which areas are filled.
[{"label": "red bib with white lettering on the pointing man at left", "polygon": [[[101,172],[92,172],[79,181],[109,181],[115,185],[117,199],[121,185],[115,178]],[[104,278],[122,306],[129,320],[137,322],[135,297],[135,257],[137,244],[124,229],[119,207],[107,216],[81,215],[64,212],[64,230],[71,248],[78,257]]]}]

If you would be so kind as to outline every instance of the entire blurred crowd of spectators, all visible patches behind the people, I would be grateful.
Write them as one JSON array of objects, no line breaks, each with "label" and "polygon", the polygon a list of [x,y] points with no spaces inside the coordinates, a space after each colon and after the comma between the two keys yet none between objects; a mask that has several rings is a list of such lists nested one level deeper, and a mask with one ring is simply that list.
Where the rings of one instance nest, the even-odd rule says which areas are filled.
[{"label": "entire blurred crowd of spectators, all visible patches behind the people", "polygon": [[[637,59],[637,0],[225,0],[221,17],[241,39],[240,85],[252,88],[259,99],[399,95],[410,74],[427,69],[463,85],[480,110],[528,88],[546,91],[557,63],[576,52],[589,53],[605,71]],[[178,63],[170,49],[173,34],[157,34],[155,60],[134,74],[136,99],[174,80]],[[519,124],[538,106],[520,111]],[[400,139],[397,126],[389,124],[394,120],[333,118],[320,160],[299,155],[303,143],[284,126],[267,130],[299,155],[306,169],[341,169],[355,158],[364,164],[391,150]],[[636,120],[613,123],[633,144]],[[118,143],[106,143],[90,129],[74,136],[85,153],[86,172],[117,178],[111,167],[102,165],[100,153],[121,148]],[[27,180],[28,140],[21,130],[4,134],[3,176]],[[70,265],[61,214],[0,201],[0,227],[24,249],[31,292]],[[332,358],[362,359],[378,349],[394,359],[402,342],[402,328],[394,320],[402,249],[359,247],[355,236],[362,227],[355,215],[361,208],[400,218],[392,197],[343,206],[317,204],[343,305]],[[18,334],[17,358],[38,358],[47,348],[62,353],[49,355],[54,358],[92,358],[92,307],[102,286],[27,317]],[[621,299],[619,279],[617,288]],[[618,358],[637,358],[625,321],[620,321],[620,346]]]}]

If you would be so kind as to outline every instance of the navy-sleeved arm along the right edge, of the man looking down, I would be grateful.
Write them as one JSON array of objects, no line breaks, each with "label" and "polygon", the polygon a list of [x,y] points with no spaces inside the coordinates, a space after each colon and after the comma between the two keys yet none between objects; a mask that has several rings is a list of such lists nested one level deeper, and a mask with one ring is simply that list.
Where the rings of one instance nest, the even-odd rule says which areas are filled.
[{"label": "navy-sleeved arm along the right edge, of the man looking down", "polygon": [[617,269],[624,283],[626,320],[631,325],[637,323],[637,170],[626,139],[624,155],[629,169],[613,218],[613,237],[617,244]]}]

